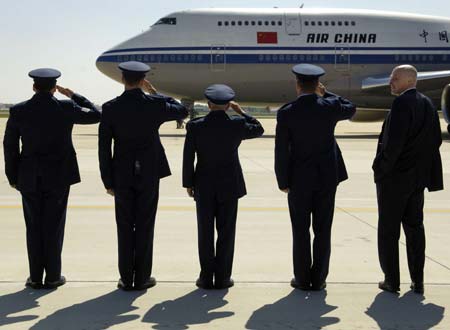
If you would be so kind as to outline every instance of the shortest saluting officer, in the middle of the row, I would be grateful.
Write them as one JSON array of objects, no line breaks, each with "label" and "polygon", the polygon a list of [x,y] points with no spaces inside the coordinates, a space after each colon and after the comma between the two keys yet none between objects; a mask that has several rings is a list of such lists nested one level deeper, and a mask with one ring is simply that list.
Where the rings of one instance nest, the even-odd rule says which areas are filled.
[{"label": "shortest saluting officer, in the middle of the row", "polygon": [[[242,140],[259,137],[264,129],[239,104],[232,102],[235,93],[230,87],[209,86],[205,97],[209,114],[186,125],[183,187],[197,206],[201,271],[196,285],[223,289],[234,284],[231,270],[238,199],[246,194],[238,148]],[[226,113],[229,108],[241,116],[229,117]],[[215,251],[214,224],[218,235]]]}]

